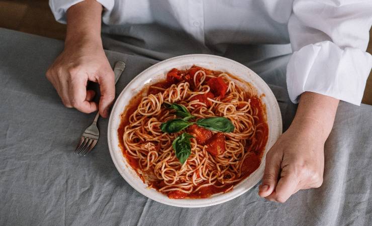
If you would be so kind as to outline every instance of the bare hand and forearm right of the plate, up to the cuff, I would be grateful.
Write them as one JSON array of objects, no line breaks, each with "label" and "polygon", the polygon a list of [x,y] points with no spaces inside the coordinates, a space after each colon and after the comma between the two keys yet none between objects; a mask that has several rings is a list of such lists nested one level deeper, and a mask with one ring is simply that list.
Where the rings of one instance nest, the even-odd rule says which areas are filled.
[{"label": "bare hand and forearm right of the plate, up to the cuff", "polygon": [[266,155],[258,194],[285,202],[301,189],[323,183],[324,143],[332,127],[338,99],[315,92],[301,94],[295,119]]}]

